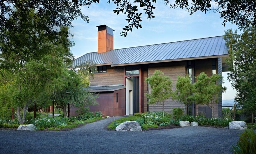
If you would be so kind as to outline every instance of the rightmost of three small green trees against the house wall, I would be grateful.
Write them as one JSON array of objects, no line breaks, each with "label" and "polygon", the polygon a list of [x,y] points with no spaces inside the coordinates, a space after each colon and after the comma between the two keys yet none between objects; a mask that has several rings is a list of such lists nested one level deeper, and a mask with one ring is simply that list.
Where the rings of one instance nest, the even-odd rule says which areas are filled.
[{"label": "rightmost of three small green trees against the house wall", "polygon": [[192,100],[195,104],[207,105],[212,109],[213,118],[213,104],[219,102],[219,96],[222,92],[226,91],[226,87],[222,87],[221,84],[216,84],[222,80],[222,76],[219,74],[208,77],[205,72],[199,74],[196,77],[196,82],[192,88]]}]

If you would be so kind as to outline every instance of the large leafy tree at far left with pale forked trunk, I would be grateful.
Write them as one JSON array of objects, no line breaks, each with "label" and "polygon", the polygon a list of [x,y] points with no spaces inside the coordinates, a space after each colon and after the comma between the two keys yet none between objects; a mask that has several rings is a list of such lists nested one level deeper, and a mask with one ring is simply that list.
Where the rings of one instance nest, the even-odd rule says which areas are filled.
[{"label": "large leafy tree at far left with pale forked trunk", "polygon": [[17,107],[20,124],[24,123],[28,106],[37,101],[42,92],[54,95],[53,91],[63,86],[60,77],[73,60],[68,28],[60,28],[54,39],[49,38],[37,27],[24,26],[33,25],[39,19],[33,9],[28,12],[34,17],[29,21],[21,16],[8,19],[11,25],[22,29],[21,32],[9,29],[0,33],[0,38],[6,38],[0,40],[0,70],[9,96],[9,101],[3,101]]}]

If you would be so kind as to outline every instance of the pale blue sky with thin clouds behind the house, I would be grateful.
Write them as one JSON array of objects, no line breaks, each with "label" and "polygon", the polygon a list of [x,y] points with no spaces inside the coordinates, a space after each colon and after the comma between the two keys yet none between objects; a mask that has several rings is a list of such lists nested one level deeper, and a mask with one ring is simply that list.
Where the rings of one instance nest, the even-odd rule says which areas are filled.
[{"label": "pale blue sky with thin clouds behind the house", "polygon": [[[122,28],[128,24],[125,21],[126,15],[114,14],[115,4],[102,0],[100,3],[92,4],[90,8],[83,7],[82,12],[90,17],[90,22],[80,19],[73,21],[74,28],[71,28],[70,32],[74,35],[71,40],[75,42],[75,46],[71,47],[71,52],[75,58],[88,52],[97,52],[98,28],[96,26],[98,25],[107,25],[115,30],[114,49],[220,36],[224,35],[227,29],[238,29],[236,25],[230,23],[226,23],[225,27],[222,26],[223,19],[220,18],[219,13],[213,11],[206,15],[203,12],[189,15],[188,11],[169,8],[162,1],[154,3],[154,6],[156,7],[153,10],[155,18],[149,20],[147,15],[143,14],[142,28],[133,28],[126,37],[120,36]],[[212,3],[212,7],[216,8],[216,4]],[[222,99],[233,99],[236,91],[227,81],[227,73],[223,72],[222,76],[225,79],[223,85],[227,87]]]}]

